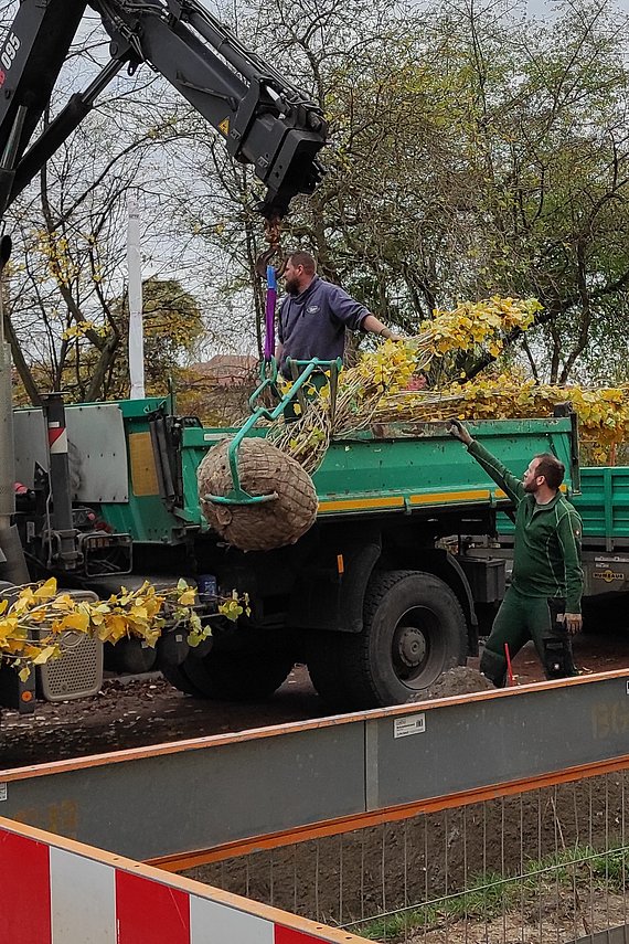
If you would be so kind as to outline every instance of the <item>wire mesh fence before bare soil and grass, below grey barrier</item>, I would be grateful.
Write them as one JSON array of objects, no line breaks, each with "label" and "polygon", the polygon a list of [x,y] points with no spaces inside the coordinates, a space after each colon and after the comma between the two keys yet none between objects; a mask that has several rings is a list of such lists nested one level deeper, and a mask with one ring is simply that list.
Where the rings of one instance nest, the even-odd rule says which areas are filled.
[{"label": "wire mesh fence before bare soil and grass, below grey barrier", "polygon": [[629,759],[540,783],[186,874],[373,941],[629,940]]}]

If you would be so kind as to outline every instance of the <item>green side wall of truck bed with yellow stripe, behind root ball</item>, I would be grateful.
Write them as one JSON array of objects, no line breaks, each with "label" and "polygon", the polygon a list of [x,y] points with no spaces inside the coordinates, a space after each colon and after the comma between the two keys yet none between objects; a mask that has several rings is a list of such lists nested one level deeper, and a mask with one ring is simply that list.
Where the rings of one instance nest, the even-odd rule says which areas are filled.
[{"label": "green side wall of truck bed with yellow stripe, behind root ball", "polygon": [[[573,468],[569,418],[486,421],[470,424],[470,429],[516,474],[540,452],[553,452]],[[211,445],[233,432],[184,431],[184,513],[190,521],[201,523],[196,467]],[[408,513],[445,505],[493,506],[505,499],[444,423],[377,427],[334,441],[313,481],[320,518]]]}]

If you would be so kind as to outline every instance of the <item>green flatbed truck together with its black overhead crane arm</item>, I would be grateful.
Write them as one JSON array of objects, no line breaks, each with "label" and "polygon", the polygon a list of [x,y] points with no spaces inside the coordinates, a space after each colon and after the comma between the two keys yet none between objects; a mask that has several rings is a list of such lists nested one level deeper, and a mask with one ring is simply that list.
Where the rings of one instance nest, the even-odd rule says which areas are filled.
[{"label": "green flatbed truck together with its black overhead crane arm", "polygon": [[[88,7],[111,41],[110,61],[41,128]],[[264,183],[266,262],[277,252],[291,199],[312,193],[321,179],[321,109],[198,0],[23,0],[0,60],[0,219],[116,75],[145,64]],[[6,236],[0,269],[9,255]],[[299,659],[331,704],[369,708],[413,697],[476,651],[479,625],[504,590],[509,535],[472,552],[490,543],[507,498],[443,425],[374,426],[332,442],[314,475],[314,526],[290,548],[245,554],[209,530],[196,494],[202,456],[230,431],[178,417],[168,399],[81,404],[67,410],[66,444],[63,403],[55,394],[41,400],[44,413],[15,414],[13,449],[11,364],[0,331],[0,580],[55,574],[76,592],[106,594],[122,581],[189,576],[198,579],[207,608],[214,587],[248,593],[250,615],[235,626],[217,621],[211,647],[189,650],[181,636],[160,646],[161,668],[182,690],[259,697]],[[478,434],[514,469],[536,452],[554,452],[578,491],[569,417],[479,424]],[[17,508],[15,479],[22,489]],[[610,515],[605,507],[606,528]],[[615,538],[608,531],[593,537],[604,544],[591,584],[614,585],[620,562],[605,554],[614,554]],[[126,649],[121,658],[134,667],[153,658],[138,646]],[[60,676],[56,697],[72,694],[68,678],[86,661],[77,648],[74,656],[67,678],[58,667],[71,667],[68,656],[50,669]],[[17,678],[6,669],[4,702]],[[49,669],[42,673],[47,678]],[[22,694],[18,686],[20,706]]]}]

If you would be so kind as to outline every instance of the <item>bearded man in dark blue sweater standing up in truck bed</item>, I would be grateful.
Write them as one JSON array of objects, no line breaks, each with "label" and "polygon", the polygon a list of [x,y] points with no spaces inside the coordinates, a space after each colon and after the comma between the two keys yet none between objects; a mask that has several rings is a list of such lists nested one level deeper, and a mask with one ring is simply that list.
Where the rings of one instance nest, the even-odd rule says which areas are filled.
[{"label": "bearded man in dark blue sweater standing up in truck bed", "polygon": [[279,308],[279,346],[276,357],[280,372],[290,380],[286,359],[332,361],[342,358],[345,330],[367,331],[382,338],[401,338],[355,301],[347,291],[317,275],[309,253],[288,257],[284,274],[287,295]]}]

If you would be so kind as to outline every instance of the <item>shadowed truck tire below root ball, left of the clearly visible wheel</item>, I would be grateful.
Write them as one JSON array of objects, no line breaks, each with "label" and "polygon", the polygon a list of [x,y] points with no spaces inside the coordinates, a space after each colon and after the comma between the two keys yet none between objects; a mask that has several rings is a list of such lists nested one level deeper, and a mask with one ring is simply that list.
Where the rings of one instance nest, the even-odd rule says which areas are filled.
[{"label": "shadowed truck tire below root ball, left of the clearly visible wheel", "polygon": [[203,659],[189,656],[180,666],[201,698],[258,701],[280,687],[295,660],[286,654],[244,656],[212,651]]}]

